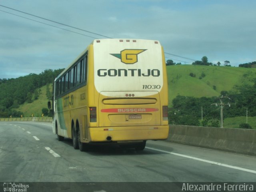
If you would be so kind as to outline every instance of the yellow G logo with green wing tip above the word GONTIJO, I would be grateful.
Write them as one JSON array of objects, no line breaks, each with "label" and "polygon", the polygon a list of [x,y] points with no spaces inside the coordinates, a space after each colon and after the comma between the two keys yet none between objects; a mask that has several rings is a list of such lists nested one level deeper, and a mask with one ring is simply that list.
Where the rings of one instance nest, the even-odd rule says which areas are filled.
[{"label": "yellow G logo with green wing tip above the word GONTIJO", "polygon": [[113,53],[110,55],[119,58],[121,62],[125,64],[134,64],[138,62],[138,54],[146,51],[147,49],[124,49],[119,53]]}]

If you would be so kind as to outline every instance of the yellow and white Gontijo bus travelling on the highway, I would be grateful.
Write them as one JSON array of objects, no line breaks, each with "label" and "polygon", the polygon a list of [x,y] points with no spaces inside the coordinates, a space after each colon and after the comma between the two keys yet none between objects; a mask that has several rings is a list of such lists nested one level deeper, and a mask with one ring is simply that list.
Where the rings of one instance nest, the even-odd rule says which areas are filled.
[{"label": "yellow and white Gontijo bus travelling on the highway", "polygon": [[[48,103],[50,108],[51,104]],[[168,86],[159,41],[94,40],[55,80],[53,133],[75,149],[117,142],[143,150],[168,137]]]}]

